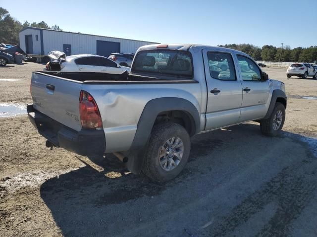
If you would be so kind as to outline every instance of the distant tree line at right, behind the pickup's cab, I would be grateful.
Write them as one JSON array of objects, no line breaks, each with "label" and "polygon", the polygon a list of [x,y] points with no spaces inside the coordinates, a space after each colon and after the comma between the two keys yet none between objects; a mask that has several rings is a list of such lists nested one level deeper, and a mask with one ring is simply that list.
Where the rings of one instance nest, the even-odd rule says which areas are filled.
[{"label": "distant tree line at right, behind the pickup's cab", "polygon": [[262,48],[248,44],[224,44],[219,47],[232,48],[252,56],[256,61],[270,62],[314,62],[317,60],[317,46],[307,48],[297,47],[291,49],[289,45],[285,47],[275,47],[264,45]]}]

